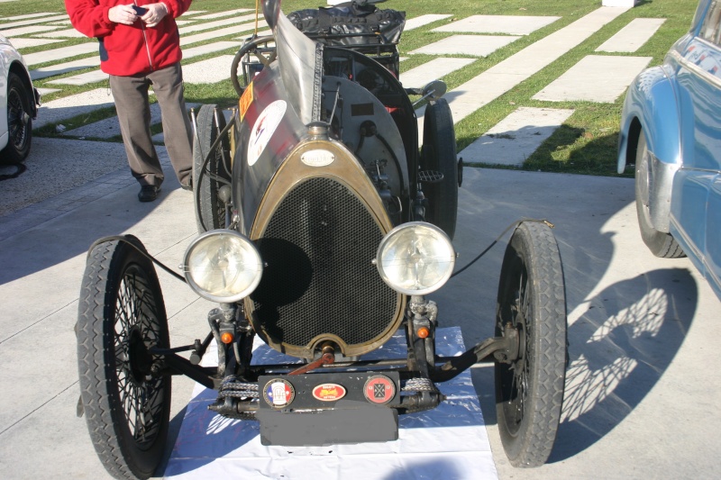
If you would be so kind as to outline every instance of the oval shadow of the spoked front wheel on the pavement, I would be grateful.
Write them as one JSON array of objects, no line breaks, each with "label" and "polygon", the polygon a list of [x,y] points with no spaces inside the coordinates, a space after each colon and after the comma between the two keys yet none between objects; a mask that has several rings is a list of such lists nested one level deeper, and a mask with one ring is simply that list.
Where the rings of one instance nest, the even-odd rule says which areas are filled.
[{"label": "oval shadow of the spoked front wheel on the pavement", "polygon": [[550,463],[589,448],[625,420],[679,351],[696,312],[689,270],[653,270],[608,286],[570,326],[571,363]]}]

